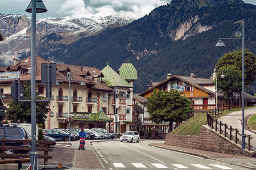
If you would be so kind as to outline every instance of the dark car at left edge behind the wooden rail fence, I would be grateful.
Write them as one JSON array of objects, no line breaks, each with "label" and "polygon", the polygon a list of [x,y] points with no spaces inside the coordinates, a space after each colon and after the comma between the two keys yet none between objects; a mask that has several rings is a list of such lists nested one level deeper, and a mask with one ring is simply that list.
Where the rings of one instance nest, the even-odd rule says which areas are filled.
[{"label": "dark car at left edge behind the wooden rail fence", "polygon": [[[6,139],[30,139],[24,128],[17,127],[16,125],[0,125],[0,138],[3,137]],[[2,145],[2,142],[0,145]],[[6,142],[5,145],[30,147],[30,144],[26,142]],[[27,152],[22,150],[6,150],[6,154],[25,154]]]}]

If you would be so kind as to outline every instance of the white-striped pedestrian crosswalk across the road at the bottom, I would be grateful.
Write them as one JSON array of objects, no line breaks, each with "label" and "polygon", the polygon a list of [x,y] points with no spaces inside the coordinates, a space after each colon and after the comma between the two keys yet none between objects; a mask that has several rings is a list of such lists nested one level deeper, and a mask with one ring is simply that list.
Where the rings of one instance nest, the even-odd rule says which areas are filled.
[{"label": "white-striped pedestrian crosswalk across the road at the bottom", "polygon": [[[212,169],[212,168],[218,168],[218,169],[233,169],[226,167],[224,165],[220,164],[209,164],[209,165],[201,165],[201,164],[161,164],[161,163],[151,163],[150,165],[144,165],[142,163],[131,163],[135,168],[177,168],[177,169]],[[123,163],[113,163],[115,168],[127,168],[129,167],[129,163],[126,165]]]}]

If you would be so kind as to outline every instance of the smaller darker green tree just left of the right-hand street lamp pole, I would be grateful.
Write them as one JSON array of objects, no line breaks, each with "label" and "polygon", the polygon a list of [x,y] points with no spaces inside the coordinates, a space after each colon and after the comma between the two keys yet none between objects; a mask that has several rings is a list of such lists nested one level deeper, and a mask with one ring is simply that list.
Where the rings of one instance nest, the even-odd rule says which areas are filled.
[{"label": "smaller darker green tree just left of the right-hand street lamp pole", "polygon": [[[221,69],[225,75],[224,78],[221,78]],[[216,86],[216,79],[213,82]],[[217,72],[217,88],[222,91],[224,98],[228,99],[230,111],[230,97],[233,97],[235,92],[240,92],[242,89],[242,71],[238,70],[235,65],[221,67]]]}]

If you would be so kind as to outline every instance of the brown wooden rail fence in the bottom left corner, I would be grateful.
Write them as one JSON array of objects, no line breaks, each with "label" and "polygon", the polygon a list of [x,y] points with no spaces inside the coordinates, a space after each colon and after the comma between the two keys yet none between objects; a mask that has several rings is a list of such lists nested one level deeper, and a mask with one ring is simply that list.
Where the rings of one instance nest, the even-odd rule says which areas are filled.
[{"label": "brown wooden rail fence in the bottom left corner", "polygon": [[[30,158],[30,154],[6,154],[6,150],[19,150],[19,151],[31,151],[31,147],[21,147],[21,146],[6,146],[6,142],[25,142],[31,143],[31,140],[28,139],[0,139],[2,146],[0,146],[1,160],[6,158]],[[36,147],[36,151],[44,151],[44,155],[38,155],[38,158],[44,159],[44,165],[48,164],[48,159],[52,159],[51,155],[48,155],[48,152],[51,152],[53,148],[49,148],[49,145],[52,144],[51,141],[36,141],[39,143],[39,146]]]}]

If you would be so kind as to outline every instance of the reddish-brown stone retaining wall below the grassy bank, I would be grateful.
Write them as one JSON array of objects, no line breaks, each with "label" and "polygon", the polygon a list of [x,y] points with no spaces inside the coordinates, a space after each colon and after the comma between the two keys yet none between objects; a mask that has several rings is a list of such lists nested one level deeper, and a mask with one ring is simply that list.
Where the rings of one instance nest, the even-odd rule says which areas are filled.
[{"label": "reddish-brown stone retaining wall below the grassy bank", "polygon": [[[203,125],[200,136],[167,134],[164,142],[166,145],[174,145],[186,148],[195,148],[206,151],[220,152],[224,154],[241,155],[241,145],[229,141],[224,135],[216,133],[214,130]],[[254,156],[253,151],[244,150],[244,155]]]}]

